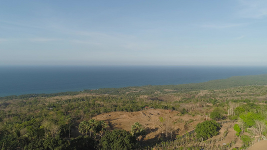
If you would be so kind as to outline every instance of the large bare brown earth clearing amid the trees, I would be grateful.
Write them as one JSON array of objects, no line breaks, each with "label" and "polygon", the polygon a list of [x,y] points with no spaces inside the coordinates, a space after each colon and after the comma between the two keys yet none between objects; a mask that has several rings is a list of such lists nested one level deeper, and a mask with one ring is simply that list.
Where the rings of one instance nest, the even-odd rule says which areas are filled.
[{"label": "large bare brown earth clearing amid the trees", "polygon": [[[163,128],[159,117],[165,119]],[[93,118],[109,122],[111,126],[110,129],[119,128],[127,131],[131,130],[131,126],[135,122],[140,122],[147,131],[145,139],[151,139],[158,138],[161,135],[166,136],[166,127],[168,128],[168,137],[171,136],[171,131],[173,132],[173,138],[175,138],[176,135],[183,135],[186,131],[193,130],[197,123],[204,121],[205,117],[200,115],[191,116],[188,114],[180,115],[178,111],[164,109],[146,109],[137,112],[116,111],[103,113]]]}]

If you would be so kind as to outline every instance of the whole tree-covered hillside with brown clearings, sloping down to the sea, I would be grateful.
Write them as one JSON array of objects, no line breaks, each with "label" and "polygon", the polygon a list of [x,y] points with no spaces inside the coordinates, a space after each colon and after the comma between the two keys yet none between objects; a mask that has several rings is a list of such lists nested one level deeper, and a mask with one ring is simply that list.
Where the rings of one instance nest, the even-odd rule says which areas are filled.
[{"label": "whole tree-covered hillside with brown clearings, sloping down to the sea", "polygon": [[[128,137],[139,122],[146,133],[129,139],[134,142],[128,144],[131,148],[245,149],[267,131],[262,124],[267,120],[265,77],[1,97],[0,145],[2,149],[101,149],[106,135],[122,131]],[[218,134],[202,141],[193,130],[205,119],[222,126]],[[235,124],[241,128],[238,135]]]}]

